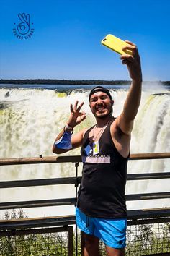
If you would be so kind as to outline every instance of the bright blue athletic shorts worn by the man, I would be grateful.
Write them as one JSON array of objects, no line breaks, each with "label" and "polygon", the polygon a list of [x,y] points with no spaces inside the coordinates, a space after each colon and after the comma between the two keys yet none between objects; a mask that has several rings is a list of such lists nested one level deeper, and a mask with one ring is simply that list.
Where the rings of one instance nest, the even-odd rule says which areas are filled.
[{"label": "bright blue athletic shorts worn by the man", "polygon": [[109,247],[120,249],[126,246],[126,218],[94,218],[76,208],[76,223],[81,231],[97,236]]}]

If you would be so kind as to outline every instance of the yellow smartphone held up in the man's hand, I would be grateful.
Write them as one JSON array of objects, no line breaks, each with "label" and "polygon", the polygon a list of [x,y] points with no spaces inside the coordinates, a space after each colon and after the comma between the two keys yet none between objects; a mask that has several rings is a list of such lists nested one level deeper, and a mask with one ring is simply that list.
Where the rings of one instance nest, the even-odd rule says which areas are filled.
[{"label": "yellow smartphone held up in the man's hand", "polygon": [[128,43],[126,43],[125,41],[121,40],[120,38],[117,38],[115,35],[107,35],[105,36],[105,38],[103,38],[103,40],[101,41],[101,43],[104,46],[107,46],[108,48],[110,48],[113,51],[116,51],[118,54],[130,54],[133,55],[133,52],[130,50],[125,50],[122,51],[122,47],[125,47],[128,45]]}]

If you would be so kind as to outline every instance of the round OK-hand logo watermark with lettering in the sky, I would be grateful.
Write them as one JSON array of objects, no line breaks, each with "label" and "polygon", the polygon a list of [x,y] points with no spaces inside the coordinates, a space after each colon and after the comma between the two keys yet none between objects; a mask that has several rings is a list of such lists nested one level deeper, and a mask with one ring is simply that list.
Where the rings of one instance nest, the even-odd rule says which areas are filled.
[{"label": "round OK-hand logo watermark with lettering in the sky", "polygon": [[19,22],[14,23],[15,27],[13,28],[14,35],[20,40],[29,39],[34,33],[34,28],[32,28],[33,23],[30,23],[30,14],[19,13]]}]

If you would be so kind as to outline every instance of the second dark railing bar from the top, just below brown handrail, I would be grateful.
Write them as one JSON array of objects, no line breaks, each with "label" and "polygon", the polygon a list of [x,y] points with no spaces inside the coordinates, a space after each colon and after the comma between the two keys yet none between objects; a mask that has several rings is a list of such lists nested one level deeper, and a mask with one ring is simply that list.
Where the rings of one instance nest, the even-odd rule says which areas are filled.
[{"label": "second dark railing bar from the top, just below brown handrail", "polygon": [[[128,174],[127,180],[141,180],[141,179],[170,179],[170,172],[156,173],[156,174]],[[35,186],[47,186],[47,185],[59,185],[59,184],[80,184],[81,176],[66,178],[54,178],[54,179],[27,179],[17,181],[5,181],[0,182],[0,189],[9,187],[35,187]]]}]

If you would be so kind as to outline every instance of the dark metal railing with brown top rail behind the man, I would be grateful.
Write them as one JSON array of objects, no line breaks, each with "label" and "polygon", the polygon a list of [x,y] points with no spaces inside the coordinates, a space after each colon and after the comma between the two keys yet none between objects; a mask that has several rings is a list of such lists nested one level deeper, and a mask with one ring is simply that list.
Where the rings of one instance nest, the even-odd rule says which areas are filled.
[{"label": "dark metal railing with brown top rail behind the man", "polygon": [[[143,153],[131,154],[130,160],[145,160],[145,159],[163,159],[170,158],[170,153]],[[78,166],[81,162],[81,156],[51,156],[39,158],[1,158],[0,166],[20,165],[20,164],[36,164],[36,163],[75,163],[76,175],[74,177],[56,178],[56,179],[29,179],[17,181],[4,181],[0,182],[1,188],[14,188],[14,187],[37,187],[44,185],[58,185],[58,184],[74,184],[76,187],[75,197],[53,199],[53,200],[30,200],[30,201],[16,201],[16,202],[0,202],[0,210],[17,209],[17,208],[35,208],[44,206],[56,205],[74,205],[76,204],[77,188],[81,182],[81,177],[78,176]],[[128,174],[129,181],[146,180],[146,179],[169,179],[170,172],[166,173],[152,173],[152,174]],[[170,192],[156,192],[156,193],[143,193],[135,195],[125,195],[127,201],[132,200],[153,200],[170,198]],[[170,208],[158,208],[148,210],[128,210],[128,226],[150,225],[151,223],[169,223]],[[15,231],[32,228],[44,228],[52,226],[70,226],[75,224],[75,216],[58,216],[47,218],[27,218],[21,220],[0,220],[0,236],[9,236],[14,234]],[[170,229],[170,228],[169,228]],[[8,232],[8,233],[6,233]],[[138,235],[138,232],[137,232]],[[139,237],[139,236],[138,236]],[[159,239],[160,241],[160,239]],[[76,248],[78,247],[78,236],[76,231]],[[138,243],[137,243],[138,244]],[[70,242],[71,246],[71,242]],[[73,245],[72,245],[73,247]],[[170,237],[169,237],[169,252],[170,253]],[[139,249],[141,250],[141,249]],[[68,250],[68,255],[71,251]],[[78,255],[76,249],[75,254]],[[131,253],[131,252],[130,252]],[[132,252],[134,256],[134,252]],[[139,252],[140,253],[140,252]],[[163,252],[161,252],[163,253]],[[83,255],[83,252],[82,252]],[[130,254],[129,254],[130,255]],[[136,254],[135,256],[140,255]]]}]

